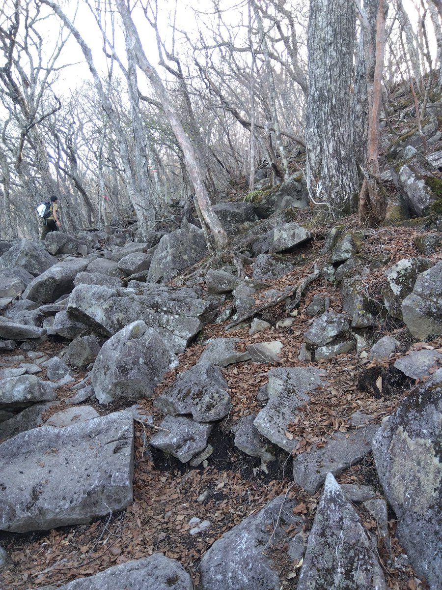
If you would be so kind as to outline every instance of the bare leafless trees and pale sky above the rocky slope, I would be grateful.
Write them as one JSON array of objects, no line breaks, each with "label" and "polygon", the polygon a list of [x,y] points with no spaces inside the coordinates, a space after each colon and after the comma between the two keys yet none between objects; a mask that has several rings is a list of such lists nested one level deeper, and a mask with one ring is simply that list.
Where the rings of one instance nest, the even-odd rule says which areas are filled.
[{"label": "bare leafless trees and pale sky above the rocky slope", "polygon": [[273,185],[302,169],[318,215],[382,221],[379,122],[398,134],[400,88],[418,126],[440,93],[442,2],[198,6],[2,3],[2,240],[37,238],[57,195],[64,231],[133,219],[141,239],[195,204],[222,250],[212,204],[245,198],[264,160]]}]

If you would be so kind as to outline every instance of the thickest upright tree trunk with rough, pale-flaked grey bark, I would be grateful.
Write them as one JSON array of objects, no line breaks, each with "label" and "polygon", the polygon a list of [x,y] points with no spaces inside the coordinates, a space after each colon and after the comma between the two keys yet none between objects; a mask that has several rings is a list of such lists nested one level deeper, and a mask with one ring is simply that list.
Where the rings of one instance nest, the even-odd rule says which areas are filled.
[{"label": "thickest upright tree trunk with rough, pale-flaked grey bark", "polygon": [[342,217],[357,203],[350,94],[354,35],[354,2],[311,0],[305,139],[309,194],[319,217]]}]

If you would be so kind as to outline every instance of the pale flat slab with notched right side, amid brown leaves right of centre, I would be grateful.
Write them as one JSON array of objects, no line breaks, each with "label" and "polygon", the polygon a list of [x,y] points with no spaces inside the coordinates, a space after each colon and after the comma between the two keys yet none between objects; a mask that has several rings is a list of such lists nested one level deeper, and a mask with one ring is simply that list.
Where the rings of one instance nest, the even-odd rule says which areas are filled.
[{"label": "pale flat slab with notched right side, amid brown leaves right of centre", "polygon": [[288,453],[295,450],[298,440],[289,440],[285,432],[298,415],[298,408],[308,401],[310,392],[326,386],[326,372],[316,367],[271,369],[268,372],[269,401],[255,418],[255,427],[269,441]]}]

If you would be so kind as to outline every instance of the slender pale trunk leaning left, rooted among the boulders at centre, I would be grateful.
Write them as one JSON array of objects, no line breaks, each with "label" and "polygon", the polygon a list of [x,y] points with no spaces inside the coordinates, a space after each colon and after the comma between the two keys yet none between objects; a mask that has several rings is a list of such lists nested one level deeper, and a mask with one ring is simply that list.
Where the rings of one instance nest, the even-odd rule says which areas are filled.
[{"label": "slender pale trunk leaning left, rooted among the boulders at centre", "polygon": [[159,75],[151,66],[149,60],[147,60],[143,46],[141,45],[140,37],[138,37],[138,32],[135,28],[130,12],[128,11],[128,8],[123,0],[117,0],[117,8],[118,12],[120,12],[121,18],[123,19],[126,35],[131,39],[138,65],[141,71],[143,71],[147,78],[149,78],[150,83],[152,84],[153,89],[160,100],[164,113],[166,113],[176,140],[179,143],[180,148],[183,150],[186,169],[195,189],[196,200],[199,209],[204,222],[212,232],[213,239],[215,241],[215,249],[218,253],[220,253],[223,250],[226,250],[229,240],[219,218],[217,217],[215,211],[213,211],[209,194],[207,192],[206,186],[204,185],[204,175],[200,169],[199,163],[197,162],[192,143],[190,142],[189,137],[186,135],[186,132],[184,132],[176,109],[170,100],[170,97],[167,94]]}]

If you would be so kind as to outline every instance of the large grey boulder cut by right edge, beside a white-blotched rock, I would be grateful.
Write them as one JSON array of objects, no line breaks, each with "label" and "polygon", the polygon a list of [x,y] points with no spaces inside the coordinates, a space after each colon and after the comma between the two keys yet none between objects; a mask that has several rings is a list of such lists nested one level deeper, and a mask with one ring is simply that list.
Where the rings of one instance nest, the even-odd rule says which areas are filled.
[{"label": "large grey boulder cut by right edge, beside a white-blotched rock", "polygon": [[442,334],[442,262],[418,275],[401,311],[415,339],[428,340]]}]

